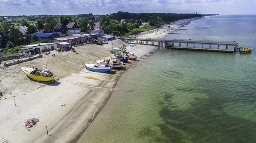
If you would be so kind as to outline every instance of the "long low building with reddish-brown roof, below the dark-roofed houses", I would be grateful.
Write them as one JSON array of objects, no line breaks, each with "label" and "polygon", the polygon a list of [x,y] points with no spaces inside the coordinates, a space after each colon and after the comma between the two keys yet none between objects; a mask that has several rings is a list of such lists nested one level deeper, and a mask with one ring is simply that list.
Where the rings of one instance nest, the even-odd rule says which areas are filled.
[{"label": "long low building with reddish-brown roof, below the dark-roofed houses", "polygon": [[88,36],[84,36],[81,34],[52,39],[53,42],[69,42],[71,43],[71,45],[84,43],[84,42],[87,42],[88,40],[89,40]]}]

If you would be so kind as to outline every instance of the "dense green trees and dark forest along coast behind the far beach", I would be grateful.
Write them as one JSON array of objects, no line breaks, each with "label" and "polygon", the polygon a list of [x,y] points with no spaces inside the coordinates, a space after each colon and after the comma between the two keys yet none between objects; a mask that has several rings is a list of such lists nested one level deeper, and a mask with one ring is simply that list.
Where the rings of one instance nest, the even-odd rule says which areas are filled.
[{"label": "dense green trees and dark forest along coast behind the far beach", "polygon": [[[147,30],[151,30],[163,24],[194,17],[201,17],[201,14],[129,13],[119,11],[110,15],[102,15],[99,22],[101,29],[105,33],[128,36],[145,31],[139,29],[142,22],[150,22],[150,25],[153,27],[147,28]],[[126,22],[119,23],[123,19]]]}]

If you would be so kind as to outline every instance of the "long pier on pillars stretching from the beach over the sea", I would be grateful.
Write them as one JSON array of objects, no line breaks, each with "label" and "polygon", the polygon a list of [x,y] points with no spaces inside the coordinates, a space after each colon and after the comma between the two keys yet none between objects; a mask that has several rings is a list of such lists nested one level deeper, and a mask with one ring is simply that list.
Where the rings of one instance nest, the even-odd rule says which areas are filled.
[{"label": "long pier on pillars stretching from the beach over the sea", "polygon": [[[171,48],[179,50],[200,50],[200,51],[212,51],[212,52],[224,52],[233,53],[237,51],[238,42],[236,41],[212,41],[212,40],[191,40],[191,39],[161,39],[161,38],[142,38],[142,37],[116,37],[126,43],[131,44],[143,44],[143,45],[155,45],[160,49]],[[175,44],[179,46],[175,46]],[[186,47],[181,46],[185,44]],[[189,47],[192,45],[192,47]],[[196,45],[200,45],[201,48],[196,48]],[[208,45],[209,48],[203,48],[204,45]],[[217,48],[212,48],[212,45],[217,45]],[[220,45],[224,45],[225,49],[220,49]],[[232,49],[229,49],[232,47]]]}]

